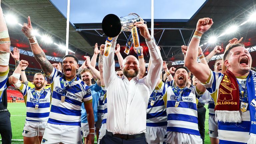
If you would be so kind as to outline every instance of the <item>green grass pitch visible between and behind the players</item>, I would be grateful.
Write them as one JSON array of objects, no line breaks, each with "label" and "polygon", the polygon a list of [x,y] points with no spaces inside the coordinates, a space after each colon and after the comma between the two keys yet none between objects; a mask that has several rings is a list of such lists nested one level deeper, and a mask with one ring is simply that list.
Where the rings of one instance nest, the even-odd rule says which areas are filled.
[{"label": "green grass pitch visible between and behind the players", "polygon": [[[210,144],[210,138],[208,132],[208,109],[206,105],[206,120],[205,120],[205,144]],[[8,110],[11,113],[11,124],[12,124],[12,144],[23,144],[15,140],[23,140],[22,131],[26,119],[26,106],[24,103],[8,103]],[[1,137],[0,137],[1,138]],[[95,138],[96,141],[96,138]],[[0,142],[2,144],[2,142]]]}]

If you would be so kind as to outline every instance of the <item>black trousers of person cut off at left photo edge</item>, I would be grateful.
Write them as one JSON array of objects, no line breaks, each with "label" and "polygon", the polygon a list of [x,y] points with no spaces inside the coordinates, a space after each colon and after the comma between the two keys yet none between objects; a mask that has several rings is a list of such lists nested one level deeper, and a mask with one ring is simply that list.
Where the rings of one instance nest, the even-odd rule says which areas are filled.
[{"label": "black trousers of person cut off at left photo edge", "polygon": [[0,113],[0,134],[2,137],[2,144],[12,143],[12,128],[10,116],[10,112]]}]

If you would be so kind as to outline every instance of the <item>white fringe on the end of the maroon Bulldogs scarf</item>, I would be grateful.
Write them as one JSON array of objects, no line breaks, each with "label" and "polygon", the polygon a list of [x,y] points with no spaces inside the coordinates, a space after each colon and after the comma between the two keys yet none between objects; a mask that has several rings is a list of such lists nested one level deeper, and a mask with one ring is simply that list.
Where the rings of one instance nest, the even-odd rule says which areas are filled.
[{"label": "white fringe on the end of the maroon Bulldogs scarf", "polygon": [[[242,122],[239,111],[227,111],[227,110],[216,110],[215,111],[216,121],[221,122]],[[254,143],[255,144],[255,143]]]}]

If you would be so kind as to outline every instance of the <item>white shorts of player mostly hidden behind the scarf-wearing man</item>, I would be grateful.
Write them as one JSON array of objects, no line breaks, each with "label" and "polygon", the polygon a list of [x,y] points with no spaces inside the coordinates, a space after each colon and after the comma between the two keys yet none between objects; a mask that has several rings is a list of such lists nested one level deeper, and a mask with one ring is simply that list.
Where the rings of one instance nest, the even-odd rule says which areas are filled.
[{"label": "white shorts of player mostly hidden behind the scarf-wearing man", "polygon": [[218,136],[218,122],[216,122],[215,116],[209,115],[209,136],[212,138],[219,138]]}]

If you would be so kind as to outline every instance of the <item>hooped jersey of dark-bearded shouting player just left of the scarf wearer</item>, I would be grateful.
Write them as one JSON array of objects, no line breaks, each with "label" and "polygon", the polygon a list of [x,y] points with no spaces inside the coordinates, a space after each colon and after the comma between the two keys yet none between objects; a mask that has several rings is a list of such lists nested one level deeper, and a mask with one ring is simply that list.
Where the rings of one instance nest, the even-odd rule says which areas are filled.
[{"label": "hooped jersey of dark-bearded shouting player just left of the scarf wearer", "polygon": [[167,98],[164,98],[167,112],[167,131],[198,135],[197,92],[193,87],[187,88],[180,97],[178,107],[175,107],[178,95],[173,92],[175,87],[168,87]]}]

